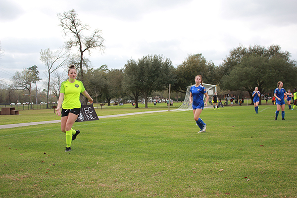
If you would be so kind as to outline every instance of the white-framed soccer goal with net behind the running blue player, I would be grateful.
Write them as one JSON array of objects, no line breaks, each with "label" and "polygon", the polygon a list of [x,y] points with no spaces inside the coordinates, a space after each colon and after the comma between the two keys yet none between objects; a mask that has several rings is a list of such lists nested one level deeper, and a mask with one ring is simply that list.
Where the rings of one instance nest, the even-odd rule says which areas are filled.
[{"label": "white-framed soccer goal with net behind the running blue player", "polygon": [[[184,99],[184,102],[182,103],[182,105],[173,111],[188,111],[188,110],[193,109],[192,103],[190,103],[190,89],[191,89],[191,87],[192,86],[187,87],[187,93],[186,93],[186,96],[185,96],[185,99]],[[212,101],[212,96],[216,92],[216,85],[210,85],[210,84],[203,83],[203,87],[205,88],[205,90],[209,96],[209,101]],[[204,95],[204,98],[205,98],[205,95]]]}]

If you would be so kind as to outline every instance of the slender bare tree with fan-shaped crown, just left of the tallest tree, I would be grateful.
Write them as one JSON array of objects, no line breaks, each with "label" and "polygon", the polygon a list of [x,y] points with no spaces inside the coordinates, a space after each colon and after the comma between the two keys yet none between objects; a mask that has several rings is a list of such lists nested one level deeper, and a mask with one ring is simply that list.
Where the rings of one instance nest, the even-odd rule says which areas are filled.
[{"label": "slender bare tree with fan-shaped crown, just left of the tallest tree", "polygon": [[69,57],[69,51],[65,49],[57,49],[51,51],[50,49],[42,50],[40,52],[40,60],[45,63],[48,69],[48,91],[47,91],[47,108],[49,108],[49,88],[50,88],[50,74],[63,66]]}]

